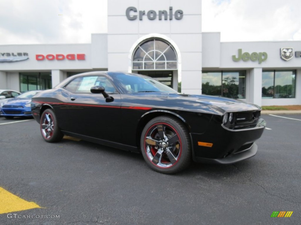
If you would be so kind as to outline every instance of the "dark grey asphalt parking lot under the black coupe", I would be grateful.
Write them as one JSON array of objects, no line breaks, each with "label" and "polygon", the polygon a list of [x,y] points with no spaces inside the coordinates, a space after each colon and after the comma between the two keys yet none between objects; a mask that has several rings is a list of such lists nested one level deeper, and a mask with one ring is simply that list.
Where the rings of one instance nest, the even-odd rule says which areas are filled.
[{"label": "dark grey asphalt parking lot under the black coupe", "polygon": [[140,154],[46,143],[36,121],[0,117],[0,187],[41,207],[2,213],[0,224],[301,224],[301,115],[262,117],[256,156],[176,175]]}]

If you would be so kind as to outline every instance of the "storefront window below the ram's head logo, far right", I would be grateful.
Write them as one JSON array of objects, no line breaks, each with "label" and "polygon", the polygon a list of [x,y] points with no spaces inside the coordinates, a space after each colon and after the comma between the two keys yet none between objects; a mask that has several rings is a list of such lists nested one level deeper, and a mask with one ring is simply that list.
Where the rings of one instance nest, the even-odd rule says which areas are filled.
[{"label": "storefront window below the ram's head logo, far right", "polygon": [[295,70],[262,71],[262,98],[295,98]]}]

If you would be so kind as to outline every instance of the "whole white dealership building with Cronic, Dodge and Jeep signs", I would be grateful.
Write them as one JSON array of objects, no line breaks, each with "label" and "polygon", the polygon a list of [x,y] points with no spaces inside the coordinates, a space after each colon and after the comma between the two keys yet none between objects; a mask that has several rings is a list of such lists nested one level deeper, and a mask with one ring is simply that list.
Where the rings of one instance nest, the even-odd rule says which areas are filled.
[{"label": "whole white dealership building with Cronic, Dodge and Jeep signs", "polygon": [[301,104],[301,41],[221,42],[200,0],[110,0],[91,44],[0,45],[0,89],[49,89],[87,71],[140,73],[185,94]]}]

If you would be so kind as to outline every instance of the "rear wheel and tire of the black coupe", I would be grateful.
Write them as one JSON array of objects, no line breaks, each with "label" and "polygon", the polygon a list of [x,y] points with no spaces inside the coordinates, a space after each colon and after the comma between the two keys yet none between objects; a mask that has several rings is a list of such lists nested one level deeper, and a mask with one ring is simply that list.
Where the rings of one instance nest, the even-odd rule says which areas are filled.
[{"label": "rear wheel and tire of the black coupe", "polygon": [[64,134],[58,127],[57,118],[51,109],[47,109],[42,113],[40,130],[42,137],[47,142],[58,142],[64,137]]}]

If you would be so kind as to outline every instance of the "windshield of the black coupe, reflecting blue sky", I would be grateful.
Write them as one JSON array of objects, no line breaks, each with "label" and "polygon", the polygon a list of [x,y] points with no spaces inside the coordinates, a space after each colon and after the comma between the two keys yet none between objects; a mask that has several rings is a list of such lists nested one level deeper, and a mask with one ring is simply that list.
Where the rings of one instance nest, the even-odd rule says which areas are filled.
[{"label": "windshield of the black coupe, reflecting blue sky", "polygon": [[126,73],[116,74],[115,79],[127,93],[138,92],[165,92],[177,93],[174,89],[149,77],[135,76]]}]

